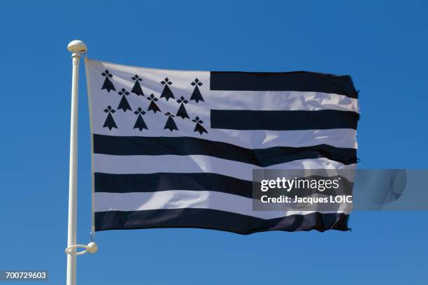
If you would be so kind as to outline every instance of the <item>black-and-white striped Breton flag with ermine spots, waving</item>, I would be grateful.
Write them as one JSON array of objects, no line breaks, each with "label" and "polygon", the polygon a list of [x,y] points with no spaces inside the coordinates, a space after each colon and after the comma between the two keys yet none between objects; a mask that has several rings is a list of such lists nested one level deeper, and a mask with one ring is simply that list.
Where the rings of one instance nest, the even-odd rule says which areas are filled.
[{"label": "black-and-white striped Breton flag with ermine spots, waving", "polygon": [[348,230],[346,210],[254,211],[252,170],[355,168],[350,76],[85,64],[95,231]]}]

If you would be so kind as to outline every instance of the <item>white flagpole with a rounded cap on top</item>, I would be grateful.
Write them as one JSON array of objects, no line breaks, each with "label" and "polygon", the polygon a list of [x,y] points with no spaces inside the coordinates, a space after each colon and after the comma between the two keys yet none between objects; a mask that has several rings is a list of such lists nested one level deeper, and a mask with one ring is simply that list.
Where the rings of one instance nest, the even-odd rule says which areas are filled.
[{"label": "white flagpole with a rounded cap on top", "polygon": [[[67,50],[72,52],[73,75],[71,79],[71,124],[69,168],[69,234],[67,247],[76,244],[77,237],[77,155],[78,155],[78,87],[80,53],[86,52],[83,41],[71,41]],[[76,248],[67,254],[67,285],[76,285]]]}]

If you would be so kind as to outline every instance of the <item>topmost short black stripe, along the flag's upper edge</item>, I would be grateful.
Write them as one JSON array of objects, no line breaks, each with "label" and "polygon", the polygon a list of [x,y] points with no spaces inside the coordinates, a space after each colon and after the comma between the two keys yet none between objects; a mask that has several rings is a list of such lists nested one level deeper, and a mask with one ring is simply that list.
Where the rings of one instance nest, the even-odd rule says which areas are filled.
[{"label": "topmost short black stripe, along the flag's upper edge", "polygon": [[210,89],[324,92],[357,98],[357,90],[349,75],[338,76],[306,71],[280,73],[211,71]]}]

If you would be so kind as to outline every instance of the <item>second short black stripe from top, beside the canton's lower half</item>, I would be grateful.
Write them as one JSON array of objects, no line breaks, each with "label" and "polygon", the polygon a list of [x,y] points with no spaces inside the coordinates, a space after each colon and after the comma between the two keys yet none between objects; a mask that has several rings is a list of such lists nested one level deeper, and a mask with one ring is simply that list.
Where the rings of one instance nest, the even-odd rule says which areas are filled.
[{"label": "second short black stripe from top, beside the canton's lower half", "polygon": [[271,131],[357,129],[358,118],[356,112],[339,110],[211,110],[211,128]]}]

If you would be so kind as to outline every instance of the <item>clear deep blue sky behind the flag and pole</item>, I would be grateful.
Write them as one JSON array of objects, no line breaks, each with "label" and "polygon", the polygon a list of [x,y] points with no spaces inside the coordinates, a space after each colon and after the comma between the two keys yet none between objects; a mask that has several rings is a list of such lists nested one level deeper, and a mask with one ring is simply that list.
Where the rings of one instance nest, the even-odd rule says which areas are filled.
[{"label": "clear deep blue sky behind the flag and pole", "polygon": [[[428,168],[427,13],[427,1],[3,2],[0,270],[50,270],[48,284],[65,283],[69,41],[134,66],[350,74],[361,90],[359,167]],[[83,66],[81,75],[78,242],[87,243]],[[101,232],[99,252],[78,257],[78,284],[427,284],[427,221],[428,212],[354,212],[344,233]]]}]

